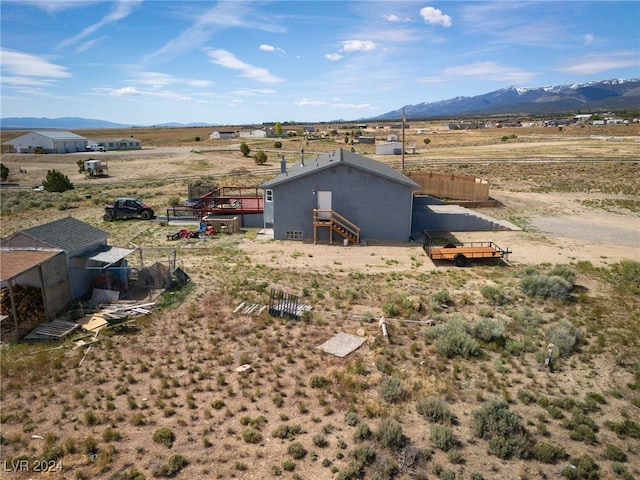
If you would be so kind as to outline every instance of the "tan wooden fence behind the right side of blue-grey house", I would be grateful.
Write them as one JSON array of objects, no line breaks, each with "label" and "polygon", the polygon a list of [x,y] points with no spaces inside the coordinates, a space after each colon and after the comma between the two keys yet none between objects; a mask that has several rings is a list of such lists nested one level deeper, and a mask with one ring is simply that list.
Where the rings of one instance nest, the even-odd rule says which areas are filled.
[{"label": "tan wooden fence behind the right side of blue-grey house", "polygon": [[422,187],[417,193],[450,200],[489,199],[489,183],[486,180],[434,172],[406,172],[405,175]]}]

